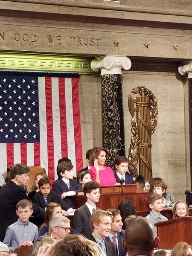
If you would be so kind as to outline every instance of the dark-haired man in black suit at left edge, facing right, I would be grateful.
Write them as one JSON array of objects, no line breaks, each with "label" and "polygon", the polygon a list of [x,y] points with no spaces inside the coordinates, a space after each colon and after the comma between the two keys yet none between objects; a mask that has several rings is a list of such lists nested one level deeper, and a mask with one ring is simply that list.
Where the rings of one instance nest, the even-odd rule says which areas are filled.
[{"label": "dark-haired man in black suit at left edge, facing right", "polygon": [[[3,241],[6,229],[17,221],[16,204],[22,199],[28,199],[23,186],[29,180],[29,168],[22,164],[13,166],[10,181],[0,189],[0,241]],[[44,220],[45,211],[33,205],[33,216]]]}]

